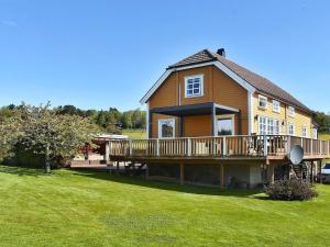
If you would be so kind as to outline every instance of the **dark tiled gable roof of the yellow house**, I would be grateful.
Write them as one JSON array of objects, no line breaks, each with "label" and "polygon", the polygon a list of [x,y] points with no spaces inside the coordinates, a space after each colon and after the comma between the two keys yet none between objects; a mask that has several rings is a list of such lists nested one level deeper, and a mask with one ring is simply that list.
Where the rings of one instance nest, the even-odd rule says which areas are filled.
[{"label": "dark tiled gable roof of the yellow house", "polygon": [[[290,93],[283,90],[282,88],[279,88],[278,86],[270,81],[268,79],[229,60],[223,56],[220,56],[217,53],[212,53],[209,49],[202,49],[174,65],[170,65],[167,68],[165,74],[170,74],[174,69],[179,69],[182,67],[187,67],[187,66],[198,67],[199,65],[202,66],[204,64],[211,64],[211,63],[220,63],[221,67],[224,67],[227,70],[230,70],[230,72],[234,74],[235,77],[239,77],[244,82],[248,82],[251,87],[253,87],[256,91],[261,93],[280,100],[305,112],[314,113],[314,111],[311,111],[309,108],[302,104],[299,100],[294,98]],[[231,77],[233,78],[233,76]],[[160,87],[160,82],[161,82],[160,80],[154,85],[152,89],[154,88],[156,89],[157,87]],[[155,91],[155,90],[152,91],[151,90],[147,92],[147,94],[152,94],[151,92]],[[146,96],[142,99],[142,101],[145,101]]]}]

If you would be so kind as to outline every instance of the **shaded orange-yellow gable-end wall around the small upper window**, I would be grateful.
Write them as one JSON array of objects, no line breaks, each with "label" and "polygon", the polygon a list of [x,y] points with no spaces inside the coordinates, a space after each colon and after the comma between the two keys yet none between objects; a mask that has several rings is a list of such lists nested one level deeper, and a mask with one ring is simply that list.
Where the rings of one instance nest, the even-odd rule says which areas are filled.
[{"label": "shaded orange-yellow gable-end wall around the small upper window", "polygon": [[[185,77],[204,75],[204,96],[185,98]],[[241,110],[242,134],[249,133],[248,121],[248,91],[233,81],[215,66],[205,66],[194,69],[173,72],[148,101],[150,110],[154,108],[187,105],[197,103],[216,102]],[[158,120],[175,119],[154,114],[151,124],[152,137],[158,137]],[[238,115],[235,115],[235,131],[239,130]],[[178,135],[178,121],[176,133]],[[235,133],[237,134],[237,133]],[[210,136],[211,115],[188,116],[184,120],[184,136]]]}]

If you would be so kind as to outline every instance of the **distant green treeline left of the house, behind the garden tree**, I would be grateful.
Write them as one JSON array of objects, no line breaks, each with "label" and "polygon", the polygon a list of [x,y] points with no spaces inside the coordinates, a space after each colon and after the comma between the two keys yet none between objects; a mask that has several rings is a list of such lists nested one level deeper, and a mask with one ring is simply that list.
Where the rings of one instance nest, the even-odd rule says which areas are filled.
[{"label": "distant green treeline left of the house, behind the garden tree", "polygon": [[[20,105],[10,104],[0,108],[0,119],[10,116],[10,112]],[[122,128],[145,128],[145,111],[140,109],[120,112],[116,108],[109,110],[81,110],[74,105],[61,105],[54,108],[58,114],[79,115],[90,119],[107,133],[121,133]]]}]

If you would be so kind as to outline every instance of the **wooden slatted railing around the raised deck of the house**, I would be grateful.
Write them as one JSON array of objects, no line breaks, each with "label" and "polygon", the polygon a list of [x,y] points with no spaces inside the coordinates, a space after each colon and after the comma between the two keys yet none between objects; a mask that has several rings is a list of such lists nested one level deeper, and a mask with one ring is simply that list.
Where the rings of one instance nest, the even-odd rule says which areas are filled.
[{"label": "wooden slatted railing around the raised deck of the house", "polygon": [[288,135],[237,135],[110,141],[111,156],[266,157],[286,156],[300,145],[305,156],[330,156],[330,142]]}]

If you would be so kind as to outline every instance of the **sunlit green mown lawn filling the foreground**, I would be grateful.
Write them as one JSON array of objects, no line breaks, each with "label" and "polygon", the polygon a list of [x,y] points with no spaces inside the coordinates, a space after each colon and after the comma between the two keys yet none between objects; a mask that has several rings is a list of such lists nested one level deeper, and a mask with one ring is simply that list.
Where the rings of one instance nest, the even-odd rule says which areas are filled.
[{"label": "sunlit green mown lawn filling the foreground", "polygon": [[[309,202],[103,172],[0,166],[0,246],[327,246],[330,186]],[[328,243],[328,244],[327,244]]]}]

